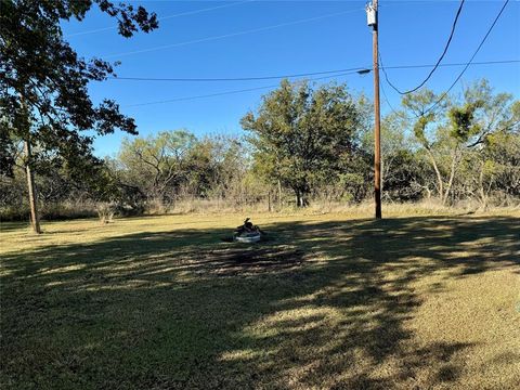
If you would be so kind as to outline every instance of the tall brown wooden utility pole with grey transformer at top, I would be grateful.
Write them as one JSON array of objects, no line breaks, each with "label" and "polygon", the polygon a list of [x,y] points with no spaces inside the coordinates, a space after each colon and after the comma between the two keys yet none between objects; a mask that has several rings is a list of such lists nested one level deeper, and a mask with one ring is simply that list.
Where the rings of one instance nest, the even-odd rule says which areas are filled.
[{"label": "tall brown wooden utility pole with grey transformer at top", "polygon": [[373,70],[374,70],[374,200],[376,218],[381,218],[381,113],[379,106],[379,49],[377,2],[366,5],[366,21],[372,26]]}]

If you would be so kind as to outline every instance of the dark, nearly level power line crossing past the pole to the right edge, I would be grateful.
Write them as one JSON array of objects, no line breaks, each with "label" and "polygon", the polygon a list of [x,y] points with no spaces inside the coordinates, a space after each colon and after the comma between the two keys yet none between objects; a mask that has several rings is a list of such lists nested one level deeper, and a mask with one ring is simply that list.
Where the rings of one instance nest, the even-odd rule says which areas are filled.
[{"label": "dark, nearly level power line crossing past the pole to the right edge", "polygon": [[[470,65],[494,65],[494,64],[510,64],[510,63],[520,63],[520,60],[500,60],[500,61],[482,61],[474,62]],[[442,67],[451,66],[465,66],[468,63],[450,63],[441,64]],[[432,64],[420,64],[420,65],[395,65],[387,66],[388,69],[411,69],[411,68],[424,68],[433,66]],[[109,77],[109,80],[126,80],[126,81],[179,81],[179,82],[212,82],[212,81],[257,81],[257,80],[273,80],[273,79],[283,79],[283,78],[294,78],[294,77],[306,77],[306,76],[317,76],[317,75],[328,75],[328,74],[338,74],[344,72],[361,72],[367,70],[372,72],[372,67],[359,66],[346,69],[334,69],[334,70],[321,70],[312,73],[300,73],[291,75],[271,75],[271,76],[248,76],[248,77],[195,77],[195,78],[155,78],[155,77]]]}]

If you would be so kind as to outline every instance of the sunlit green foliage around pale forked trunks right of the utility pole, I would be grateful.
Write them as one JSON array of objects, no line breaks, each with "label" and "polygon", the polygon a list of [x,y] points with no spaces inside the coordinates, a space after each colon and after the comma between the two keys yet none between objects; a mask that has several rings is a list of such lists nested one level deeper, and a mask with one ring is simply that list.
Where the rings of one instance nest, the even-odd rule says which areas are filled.
[{"label": "sunlit green foliage around pale forked trunks right of the utility pole", "polygon": [[[434,99],[431,91],[422,90],[406,95],[403,105],[420,115]],[[486,80],[479,80],[469,84],[460,98],[452,96],[439,110],[419,116],[413,133],[430,161],[435,178],[432,182],[443,203],[479,194],[486,204],[489,194],[498,184],[497,160],[502,158],[493,140],[499,140],[496,144],[503,147],[504,142],[516,144],[518,133],[512,130],[518,127],[519,112],[519,103],[510,94],[495,93]],[[499,135],[504,132],[507,135]],[[504,166],[512,162],[508,159],[511,155],[505,147]],[[508,170],[506,177],[515,174]],[[500,185],[508,181],[505,177],[499,180]],[[507,184],[508,191],[514,187]]]}]

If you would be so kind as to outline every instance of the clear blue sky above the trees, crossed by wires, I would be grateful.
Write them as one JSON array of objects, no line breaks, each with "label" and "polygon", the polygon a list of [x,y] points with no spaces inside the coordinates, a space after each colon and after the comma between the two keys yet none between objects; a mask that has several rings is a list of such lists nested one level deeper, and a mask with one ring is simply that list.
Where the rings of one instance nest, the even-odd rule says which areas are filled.
[{"label": "clear blue sky above the trees, crossed by wires", "polygon": [[[117,35],[115,21],[93,10],[81,23],[64,24],[64,35],[80,55],[120,61],[120,77],[230,78],[313,73],[372,64],[372,31],[365,1],[133,1],[157,13],[159,29],[131,39]],[[502,0],[467,0],[443,63],[467,62],[477,49]],[[379,48],[386,66],[432,64],[447,39],[458,1],[380,0]],[[476,62],[520,58],[520,4],[510,1]],[[439,68],[428,87],[450,87],[460,67]],[[413,88],[429,68],[391,69],[400,88]],[[497,91],[520,98],[520,64],[471,66],[454,88],[487,78]],[[372,75],[348,75],[352,92],[373,95]],[[381,74],[381,82],[384,82]],[[197,135],[240,133],[239,119],[255,109],[262,89],[229,95],[176,100],[276,84],[277,80],[225,82],[159,82],[108,80],[90,86],[94,101],[115,99],[135,118],[141,135],[186,128]],[[400,96],[385,84],[393,106]],[[389,110],[385,99],[382,113]],[[113,155],[126,134],[95,141],[95,153]]]}]

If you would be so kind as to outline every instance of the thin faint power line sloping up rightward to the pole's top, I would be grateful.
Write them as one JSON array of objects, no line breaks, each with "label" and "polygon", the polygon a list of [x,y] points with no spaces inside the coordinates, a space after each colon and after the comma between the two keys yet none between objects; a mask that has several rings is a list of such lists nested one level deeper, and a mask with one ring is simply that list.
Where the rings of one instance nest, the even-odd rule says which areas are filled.
[{"label": "thin faint power line sloping up rightward to the pole's top", "polygon": [[361,10],[363,10],[363,9],[335,12],[335,13],[330,13],[330,14],[313,16],[313,17],[308,17],[308,18],[302,18],[302,20],[297,20],[297,21],[291,21],[291,22],[285,22],[285,23],[271,25],[271,26],[265,26],[265,27],[258,27],[258,28],[251,28],[251,29],[248,29],[248,30],[224,34],[224,35],[220,35],[220,36],[210,36],[210,37],[193,39],[193,40],[184,41],[184,42],[164,44],[164,46],[155,47],[155,48],[133,50],[133,51],[128,51],[128,52],[122,52],[122,53],[117,53],[117,54],[104,55],[103,57],[104,58],[114,58],[114,57],[121,57],[121,56],[127,56],[127,55],[132,55],[132,54],[148,53],[148,52],[153,52],[153,51],[157,51],[157,50],[179,48],[179,47],[184,47],[184,46],[188,46],[188,44],[193,44],[193,43],[209,42],[209,41],[214,41],[214,40],[224,39],[224,38],[238,37],[238,36],[247,35],[247,34],[266,31],[266,30],[275,29],[275,28],[280,28],[280,27],[292,26],[292,25],[297,25],[297,24],[301,24],[301,23],[321,21],[321,20],[324,20],[324,18],[327,18],[327,17],[333,17],[333,16],[338,16],[338,15],[344,15],[344,14],[348,14],[348,13],[359,12]]}]

